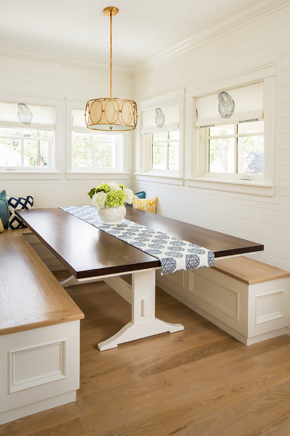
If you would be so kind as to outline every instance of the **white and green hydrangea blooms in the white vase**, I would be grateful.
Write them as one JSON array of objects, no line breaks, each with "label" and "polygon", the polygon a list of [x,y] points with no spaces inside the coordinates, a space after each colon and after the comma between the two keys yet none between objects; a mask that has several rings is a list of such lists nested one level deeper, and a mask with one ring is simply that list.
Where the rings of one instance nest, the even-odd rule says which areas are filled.
[{"label": "white and green hydrangea blooms in the white vase", "polygon": [[118,185],[116,182],[101,183],[88,192],[94,208],[111,208],[124,206],[125,203],[132,204],[135,194],[125,185]]}]

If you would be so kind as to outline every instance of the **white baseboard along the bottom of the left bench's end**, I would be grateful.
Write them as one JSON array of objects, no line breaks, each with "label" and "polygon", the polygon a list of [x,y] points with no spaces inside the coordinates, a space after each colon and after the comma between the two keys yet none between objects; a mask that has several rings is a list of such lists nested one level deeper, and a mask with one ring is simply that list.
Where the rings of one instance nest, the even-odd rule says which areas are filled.
[{"label": "white baseboard along the bottom of the left bench's end", "polygon": [[76,391],[66,392],[65,394],[57,395],[52,398],[47,398],[35,403],[27,404],[16,409],[7,410],[0,413],[0,425],[5,422],[14,421],[14,419],[23,418],[33,413],[42,412],[43,410],[51,409],[66,403],[71,403],[76,400]]}]

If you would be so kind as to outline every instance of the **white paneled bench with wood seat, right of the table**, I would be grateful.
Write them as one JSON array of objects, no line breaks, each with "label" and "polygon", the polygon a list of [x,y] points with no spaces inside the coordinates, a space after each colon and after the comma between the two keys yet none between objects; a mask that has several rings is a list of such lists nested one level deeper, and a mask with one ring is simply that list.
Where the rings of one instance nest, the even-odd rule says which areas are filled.
[{"label": "white paneled bench with wood seat, right of the table", "polygon": [[157,284],[246,345],[287,333],[290,271],[236,256]]}]

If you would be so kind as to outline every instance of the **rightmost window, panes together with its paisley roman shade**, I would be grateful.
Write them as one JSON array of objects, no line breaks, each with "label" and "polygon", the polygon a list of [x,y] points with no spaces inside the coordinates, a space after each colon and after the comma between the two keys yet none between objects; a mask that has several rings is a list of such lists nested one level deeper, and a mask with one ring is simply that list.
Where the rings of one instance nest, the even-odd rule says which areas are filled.
[{"label": "rightmost window, panes together with its paisley roman shade", "polygon": [[263,183],[263,89],[259,82],[196,99],[199,177]]}]

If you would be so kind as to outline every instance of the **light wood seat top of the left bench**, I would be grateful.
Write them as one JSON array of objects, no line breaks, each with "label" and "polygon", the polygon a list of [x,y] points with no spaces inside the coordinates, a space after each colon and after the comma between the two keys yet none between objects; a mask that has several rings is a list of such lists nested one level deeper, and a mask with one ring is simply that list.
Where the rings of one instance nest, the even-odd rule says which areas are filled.
[{"label": "light wood seat top of the left bench", "polygon": [[22,233],[0,235],[0,335],[84,318]]}]

